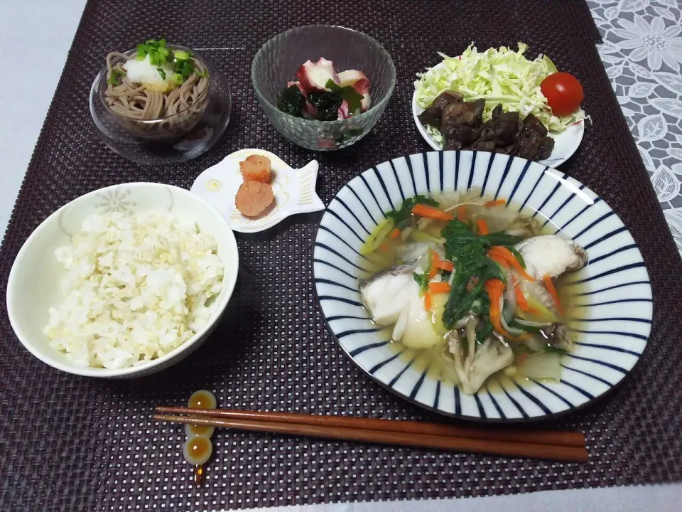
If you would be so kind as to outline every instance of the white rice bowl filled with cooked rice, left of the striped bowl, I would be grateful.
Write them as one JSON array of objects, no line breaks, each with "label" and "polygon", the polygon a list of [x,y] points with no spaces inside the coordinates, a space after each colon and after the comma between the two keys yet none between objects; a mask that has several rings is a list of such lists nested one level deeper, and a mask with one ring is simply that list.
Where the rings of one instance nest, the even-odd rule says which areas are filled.
[{"label": "white rice bowl filled with cooked rice, left of the striped bowl", "polygon": [[215,208],[182,188],[128,183],[50,215],[10,272],[19,341],[77,375],[154,373],[191,353],[237,281],[237,242]]}]

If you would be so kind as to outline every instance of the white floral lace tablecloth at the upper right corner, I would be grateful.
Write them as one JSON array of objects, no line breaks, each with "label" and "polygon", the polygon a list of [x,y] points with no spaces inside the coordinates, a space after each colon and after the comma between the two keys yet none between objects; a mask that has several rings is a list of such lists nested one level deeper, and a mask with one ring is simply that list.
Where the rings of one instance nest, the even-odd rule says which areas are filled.
[{"label": "white floral lace tablecloth at the upper right corner", "polygon": [[682,255],[682,0],[588,0],[598,46]]}]

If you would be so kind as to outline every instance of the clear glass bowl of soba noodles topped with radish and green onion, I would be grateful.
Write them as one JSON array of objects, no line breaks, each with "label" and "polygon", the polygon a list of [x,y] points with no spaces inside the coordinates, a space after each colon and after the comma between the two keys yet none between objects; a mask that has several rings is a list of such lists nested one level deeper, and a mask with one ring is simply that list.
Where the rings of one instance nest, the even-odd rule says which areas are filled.
[{"label": "clear glass bowl of soba noodles topped with radish and green onion", "polygon": [[187,161],[224,133],[231,110],[227,82],[203,55],[165,39],[110,52],[90,91],[100,137],[141,164]]}]

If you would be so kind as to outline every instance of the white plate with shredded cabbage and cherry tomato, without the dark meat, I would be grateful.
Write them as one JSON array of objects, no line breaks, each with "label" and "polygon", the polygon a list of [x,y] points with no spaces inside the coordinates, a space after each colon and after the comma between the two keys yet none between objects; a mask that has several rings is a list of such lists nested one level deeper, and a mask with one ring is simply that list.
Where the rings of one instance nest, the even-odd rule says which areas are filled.
[{"label": "white plate with shredded cabbage and cherry tomato, without the dark meat", "polygon": [[[503,46],[479,52],[472,44],[458,57],[438,53],[443,60],[425,73],[418,73],[419,80],[414,82],[412,115],[418,132],[429,146],[441,150],[447,139],[433,124],[422,124],[419,116],[443,92],[456,91],[463,102],[485,100],[482,111],[485,128],[481,137],[485,137],[487,122],[494,117],[495,107],[502,105],[502,112],[519,112],[519,117],[526,119],[532,114],[546,127],[546,136],[553,139],[553,142],[549,141],[553,147],[544,154],[539,151],[535,158],[519,154],[520,151],[511,146],[505,151],[502,147],[486,149],[463,144],[461,149],[511,152],[551,167],[563,164],[575,153],[585,132],[585,112],[580,107],[582,85],[573,75],[559,73],[546,55],[529,60],[524,56],[528,47],[524,43],[518,43],[518,46],[518,51]],[[460,148],[450,146],[446,149]],[[551,153],[547,154],[549,151]]]}]

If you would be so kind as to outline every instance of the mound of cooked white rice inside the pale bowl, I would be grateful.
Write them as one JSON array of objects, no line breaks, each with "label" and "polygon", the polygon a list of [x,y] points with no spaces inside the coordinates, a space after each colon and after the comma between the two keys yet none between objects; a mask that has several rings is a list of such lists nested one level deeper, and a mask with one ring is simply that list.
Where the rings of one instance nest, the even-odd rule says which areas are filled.
[{"label": "mound of cooked white rice inside the pale bowl", "polygon": [[222,288],[217,243],[163,212],[91,215],[55,251],[64,297],[45,335],[72,363],[124,368],[163,356],[208,320]]}]

